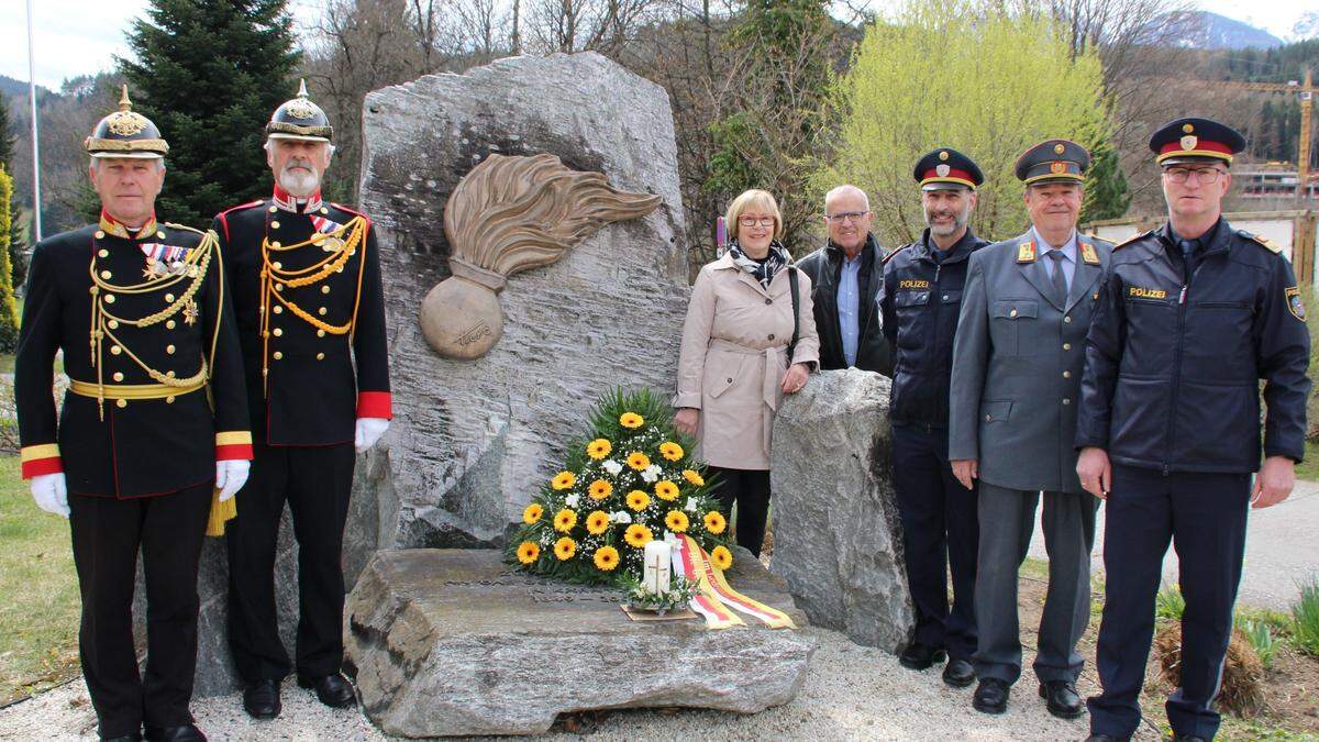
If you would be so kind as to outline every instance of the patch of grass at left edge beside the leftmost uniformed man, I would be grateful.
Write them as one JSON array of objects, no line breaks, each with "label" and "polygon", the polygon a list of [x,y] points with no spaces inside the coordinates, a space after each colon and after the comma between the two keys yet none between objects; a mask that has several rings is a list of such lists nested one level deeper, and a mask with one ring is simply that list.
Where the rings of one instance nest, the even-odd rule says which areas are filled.
[{"label": "patch of grass at left edge beside the leftmost uniformed man", "polygon": [[69,522],[37,508],[18,457],[0,457],[0,704],[78,672]]}]

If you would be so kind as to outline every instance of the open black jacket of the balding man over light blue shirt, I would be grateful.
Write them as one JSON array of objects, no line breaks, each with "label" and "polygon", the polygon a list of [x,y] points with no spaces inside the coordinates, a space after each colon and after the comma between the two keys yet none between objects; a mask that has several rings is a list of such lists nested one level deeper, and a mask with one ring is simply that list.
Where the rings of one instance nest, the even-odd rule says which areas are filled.
[{"label": "open black jacket of the balding man over light blue shirt", "polygon": [[[811,301],[815,308],[815,329],[820,337],[820,368],[847,368],[843,355],[843,334],[838,323],[838,279],[843,269],[843,248],[830,242],[820,250],[802,257],[797,269],[811,279]],[[861,271],[857,276],[859,331],[856,334],[856,367],[889,376],[893,374],[893,354],[889,341],[880,331],[874,294],[884,273],[884,250],[874,235],[865,235],[861,247]]]}]

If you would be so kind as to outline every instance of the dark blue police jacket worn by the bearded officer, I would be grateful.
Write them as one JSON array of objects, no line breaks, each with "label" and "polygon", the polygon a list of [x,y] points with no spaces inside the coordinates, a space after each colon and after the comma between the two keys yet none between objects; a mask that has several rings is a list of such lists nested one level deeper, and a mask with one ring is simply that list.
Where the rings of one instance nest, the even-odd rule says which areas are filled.
[{"label": "dark blue police jacket worn by the bearded officer", "polygon": [[884,260],[876,304],[896,358],[889,403],[896,425],[948,426],[952,339],[962,312],[962,288],[971,253],[987,244],[968,228],[935,263],[930,230],[925,230],[921,242],[905,244]]}]

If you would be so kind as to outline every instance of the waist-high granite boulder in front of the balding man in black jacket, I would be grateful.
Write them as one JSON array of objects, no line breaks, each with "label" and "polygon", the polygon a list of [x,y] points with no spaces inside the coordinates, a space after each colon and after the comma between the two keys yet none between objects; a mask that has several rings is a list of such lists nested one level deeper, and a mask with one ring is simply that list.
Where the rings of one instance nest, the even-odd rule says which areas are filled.
[{"label": "waist-high granite boulder in front of the balding man in black jacket", "polygon": [[774,419],[774,556],[811,623],[898,651],[915,626],[890,477],[886,376],[811,378]]}]

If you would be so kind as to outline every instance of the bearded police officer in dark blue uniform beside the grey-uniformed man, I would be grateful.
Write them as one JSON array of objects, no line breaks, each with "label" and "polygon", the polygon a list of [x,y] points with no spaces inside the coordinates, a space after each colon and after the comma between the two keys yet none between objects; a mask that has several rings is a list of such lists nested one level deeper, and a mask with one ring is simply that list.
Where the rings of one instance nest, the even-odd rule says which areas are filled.
[{"label": "bearded police officer in dark blue uniform beside the grey-uniformed man", "polygon": [[966,154],[939,148],[921,157],[913,177],[927,227],[919,242],[885,259],[876,300],[897,360],[889,405],[893,485],[915,605],[915,635],[898,659],[926,669],[947,656],[943,681],[964,688],[975,681],[979,524],[976,489],[963,487],[948,465],[948,380],[967,264],[989,244],[968,226],[984,174]]}]

